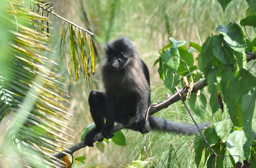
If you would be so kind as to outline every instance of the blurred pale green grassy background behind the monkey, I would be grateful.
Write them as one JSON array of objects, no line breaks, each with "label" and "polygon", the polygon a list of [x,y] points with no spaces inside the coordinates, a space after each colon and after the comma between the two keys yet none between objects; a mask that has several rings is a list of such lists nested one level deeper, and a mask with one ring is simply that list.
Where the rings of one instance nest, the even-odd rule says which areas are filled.
[{"label": "blurred pale green grassy background behind the monkey", "polygon": [[[95,53],[97,53],[95,55],[96,73],[90,78],[90,90],[102,90],[97,70],[100,67],[100,60],[104,56],[102,46],[105,41],[127,36],[149,68],[153,103],[164,100],[165,94],[168,93],[168,90],[161,85],[162,81],[157,72],[158,67],[152,66],[158,58],[157,51],[169,44],[169,37],[173,37],[177,41],[185,40],[188,44],[189,42],[195,42],[202,45],[207,36],[216,33],[215,30],[220,24],[227,25],[233,21],[239,24],[238,21],[245,18],[245,11],[248,8],[245,0],[233,0],[228,4],[225,14],[217,0],[52,0],[52,2],[55,13],[94,33],[92,37]],[[50,26],[54,28],[54,30],[50,30],[50,34],[54,36],[55,42],[60,44],[64,21],[53,15],[51,15],[50,21],[53,23]],[[248,31],[252,30],[248,29]],[[68,44],[66,46],[68,49]],[[55,52],[59,53],[60,46],[52,47],[54,47]],[[70,52],[67,51],[67,54],[69,57]],[[50,55],[49,57],[52,57],[59,64],[56,68],[65,77],[66,80],[63,82],[67,84],[65,88],[68,90],[69,74],[62,55],[63,51],[61,51],[61,56]],[[76,132],[69,133],[76,138],[66,138],[74,143],[80,142],[82,130],[92,122],[88,105],[88,93],[84,79],[80,78],[76,85],[72,83],[71,103],[67,106],[71,109],[70,112],[73,113],[70,119],[75,121],[72,129],[76,130]],[[158,113],[158,116],[173,121],[191,122],[191,119],[186,117],[185,108],[180,106],[179,103]],[[222,115],[222,118],[227,117],[224,115]],[[204,119],[196,119],[199,122],[212,120],[210,112],[209,115],[205,115]],[[104,162],[107,162],[104,165],[116,167],[127,165],[139,154],[137,152],[140,152],[143,148],[143,135],[132,131],[123,132],[127,138],[127,146],[122,147],[110,143],[106,145],[104,153],[101,153],[95,147],[86,147],[75,152],[74,156],[85,156],[87,158],[85,165]],[[182,147],[191,150],[191,147],[193,147],[192,138],[182,135],[150,132],[147,137],[148,143],[151,143],[146,146],[148,157],[156,157],[154,159],[160,165],[168,165],[168,148],[172,147],[172,143],[175,142],[175,144],[180,144]],[[68,148],[69,146],[65,147]],[[180,148],[180,150],[185,149]],[[192,152],[185,154],[193,158]],[[188,156],[184,156],[184,153],[183,156],[179,156],[179,152],[177,152],[176,156],[180,157],[181,164],[182,159],[188,159]],[[194,164],[192,162],[191,164],[183,166],[193,167]],[[76,166],[78,165],[75,164],[72,167]]]}]

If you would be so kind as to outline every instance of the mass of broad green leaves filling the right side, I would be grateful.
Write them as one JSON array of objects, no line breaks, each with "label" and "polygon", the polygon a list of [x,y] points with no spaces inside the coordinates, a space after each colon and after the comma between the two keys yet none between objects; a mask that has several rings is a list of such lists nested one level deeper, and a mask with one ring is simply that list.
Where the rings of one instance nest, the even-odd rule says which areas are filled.
[{"label": "mass of broad green leaves filling the right side", "polygon": [[[221,1],[223,12],[229,2]],[[241,26],[255,26],[253,10],[248,8],[247,15],[250,16],[240,21]],[[213,163],[214,155],[212,155],[212,151],[208,149],[201,135],[197,135],[194,140],[197,167],[205,164],[207,167],[212,167],[213,164],[216,167],[224,167],[224,162],[228,159],[235,166],[240,158],[251,161],[255,159],[255,150],[252,150],[252,144],[256,140],[253,133],[253,130],[256,129],[253,125],[255,120],[253,114],[255,113],[256,102],[256,76],[249,71],[250,68],[247,68],[246,62],[250,61],[248,60],[249,57],[255,59],[255,55],[252,53],[256,53],[256,44],[253,43],[256,38],[252,41],[249,37],[245,38],[242,29],[236,23],[229,23],[227,26],[220,25],[216,28],[216,31],[220,34],[209,36],[202,47],[193,42],[189,43],[189,48],[194,47],[200,52],[196,58],[198,60],[197,66],[193,66],[193,59],[189,59],[191,56],[188,54],[190,53],[189,48],[187,49],[184,45],[185,42],[176,42],[173,38],[170,38],[172,41],[170,44],[159,50],[160,56],[157,60],[159,62],[160,78],[171,92],[174,93],[173,87],[178,85],[182,81],[180,79],[184,76],[190,77],[192,82],[196,78],[204,77],[209,85],[208,91],[211,93],[209,105],[212,108],[212,114],[219,110],[219,102],[222,101],[220,99],[223,99],[227,105],[231,119],[214,123],[212,127],[204,131],[204,136],[218,156],[227,154],[232,156],[227,158],[218,157],[216,163]],[[172,64],[170,64],[170,61],[166,60],[165,57],[166,55],[169,56],[174,48],[178,50],[178,53],[175,54],[176,61],[172,61]],[[182,61],[177,61],[177,57]],[[172,58],[174,58],[174,55]],[[164,71],[164,69],[167,70]],[[171,70],[173,73],[170,74],[169,71]],[[191,94],[188,103],[195,115],[204,116],[207,100],[203,94],[199,96]],[[210,157],[206,163],[208,156]]]}]

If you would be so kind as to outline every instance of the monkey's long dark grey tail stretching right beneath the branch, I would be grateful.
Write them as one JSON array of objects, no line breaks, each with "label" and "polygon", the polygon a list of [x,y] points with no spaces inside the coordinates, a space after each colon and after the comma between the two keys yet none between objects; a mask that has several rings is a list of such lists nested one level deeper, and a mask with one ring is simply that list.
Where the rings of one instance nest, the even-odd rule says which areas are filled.
[{"label": "monkey's long dark grey tail stretching right beneath the branch", "polygon": [[[175,123],[164,118],[157,118],[155,116],[148,116],[150,128],[157,131],[176,132],[182,134],[198,134],[199,131],[194,124]],[[209,127],[211,123],[198,125],[200,129]]]}]

